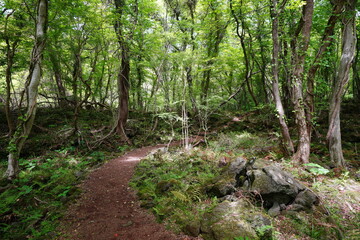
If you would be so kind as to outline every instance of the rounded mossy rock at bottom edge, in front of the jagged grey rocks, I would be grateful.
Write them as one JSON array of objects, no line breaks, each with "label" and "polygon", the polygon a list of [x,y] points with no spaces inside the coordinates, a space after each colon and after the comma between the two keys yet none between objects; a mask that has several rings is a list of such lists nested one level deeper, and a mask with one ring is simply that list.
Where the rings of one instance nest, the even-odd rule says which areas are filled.
[{"label": "rounded mossy rock at bottom edge, in front of the jagged grey rocks", "polygon": [[[260,239],[257,231],[271,226],[271,221],[248,201],[224,201],[211,212],[205,213],[201,221],[201,233],[206,240],[234,238]],[[271,234],[271,229],[269,230]]]}]

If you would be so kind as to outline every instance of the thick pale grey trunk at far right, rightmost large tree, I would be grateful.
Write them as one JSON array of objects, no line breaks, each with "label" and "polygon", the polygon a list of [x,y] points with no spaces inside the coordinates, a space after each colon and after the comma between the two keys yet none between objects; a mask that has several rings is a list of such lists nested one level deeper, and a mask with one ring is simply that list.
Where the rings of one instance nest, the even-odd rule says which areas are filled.
[{"label": "thick pale grey trunk at far right, rightmost large tree", "polygon": [[344,89],[349,81],[349,72],[355,56],[356,28],[355,28],[356,0],[349,0],[345,4],[342,30],[342,53],[337,75],[334,82],[329,111],[329,129],[326,135],[330,159],[337,167],[344,168],[345,160],[341,146],[340,106]]}]

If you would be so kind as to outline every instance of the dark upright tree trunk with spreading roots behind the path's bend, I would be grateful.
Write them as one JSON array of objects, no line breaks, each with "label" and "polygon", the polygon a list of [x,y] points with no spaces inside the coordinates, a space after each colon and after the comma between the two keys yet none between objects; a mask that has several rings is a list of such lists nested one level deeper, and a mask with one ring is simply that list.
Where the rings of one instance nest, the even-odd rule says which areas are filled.
[{"label": "dark upright tree trunk with spreading roots behind the path's bend", "polygon": [[130,144],[130,140],[125,133],[126,121],[129,114],[129,79],[130,79],[130,56],[129,46],[126,43],[123,33],[123,10],[126,5],[125,0],[114,0],[116,8],[115,31],[121,48],[121,67],[118,74],[118,91],[119,91],[119,110],[116,124],[116,132],[122,141]]}]

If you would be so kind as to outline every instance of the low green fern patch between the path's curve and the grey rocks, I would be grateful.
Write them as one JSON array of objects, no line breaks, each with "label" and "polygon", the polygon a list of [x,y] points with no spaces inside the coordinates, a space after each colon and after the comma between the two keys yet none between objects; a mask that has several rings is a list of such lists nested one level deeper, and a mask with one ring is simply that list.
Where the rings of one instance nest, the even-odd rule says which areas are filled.
[{"label": "low green fern patch between the path's curve and the grey rocks", "polygon": [[131,186],[141,205],[184,231],[201,214],[217,203],[206,194],[207,184],[219,174],[211,151],[155,153],[136,167]]}]

